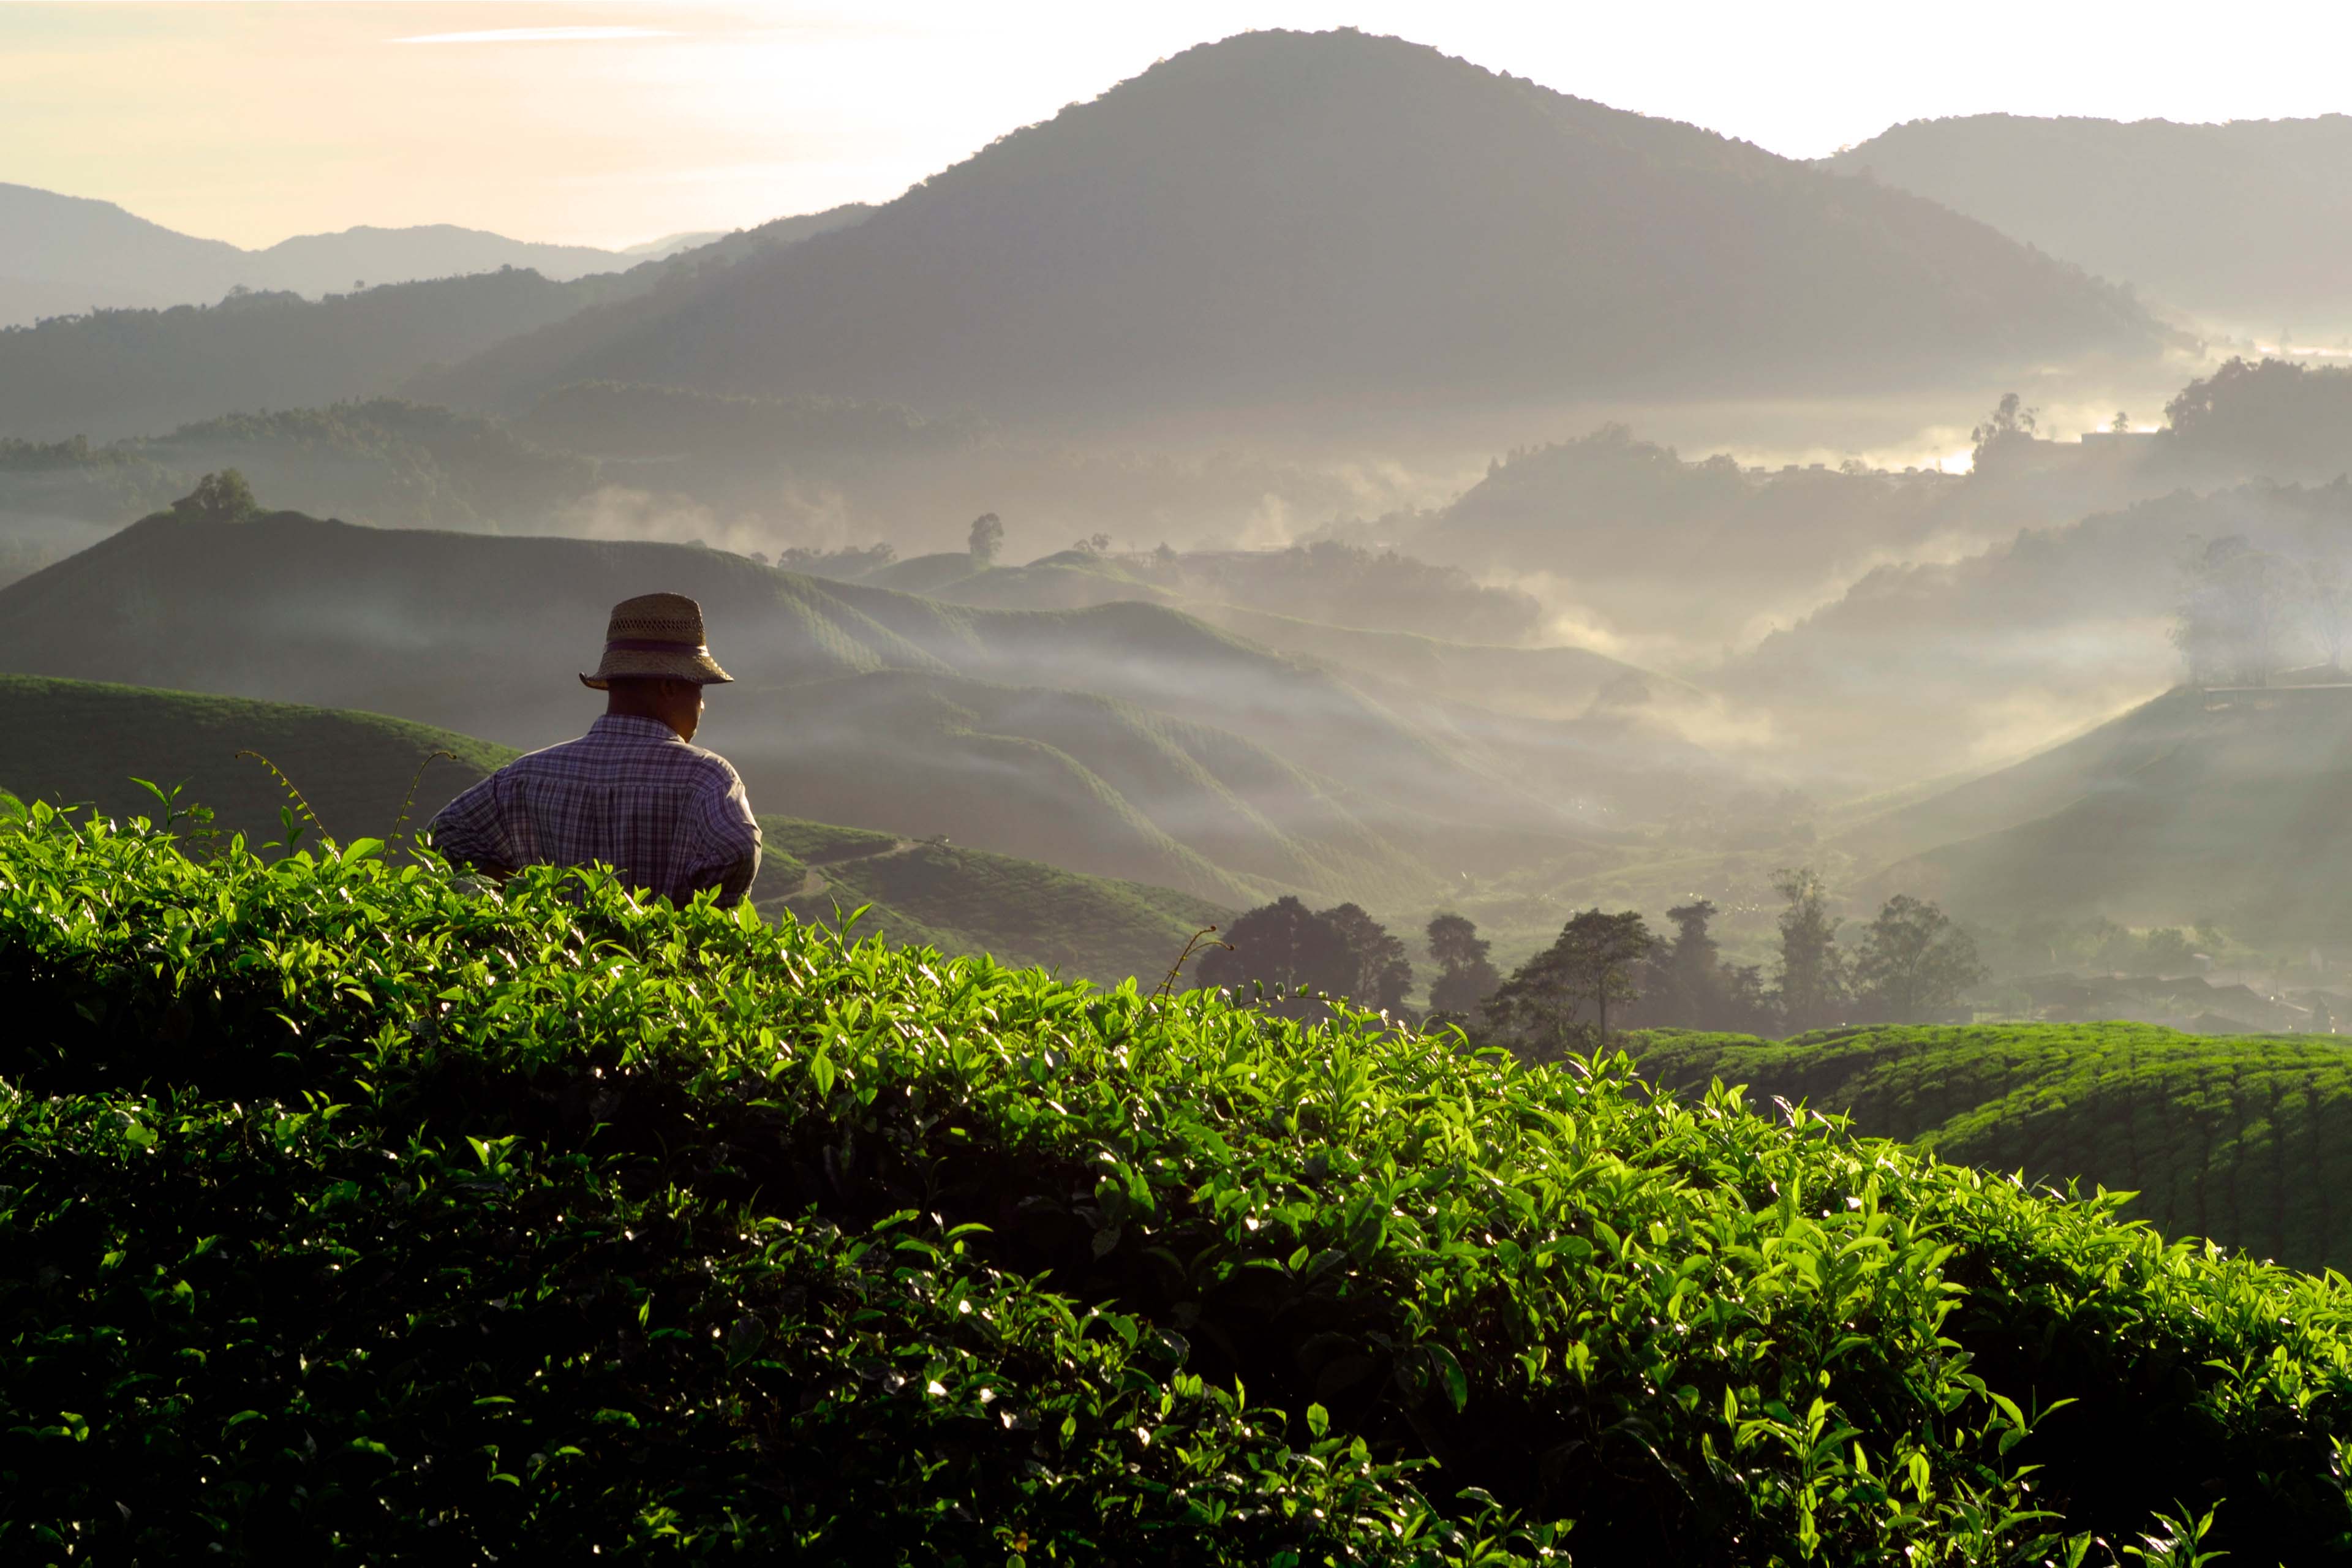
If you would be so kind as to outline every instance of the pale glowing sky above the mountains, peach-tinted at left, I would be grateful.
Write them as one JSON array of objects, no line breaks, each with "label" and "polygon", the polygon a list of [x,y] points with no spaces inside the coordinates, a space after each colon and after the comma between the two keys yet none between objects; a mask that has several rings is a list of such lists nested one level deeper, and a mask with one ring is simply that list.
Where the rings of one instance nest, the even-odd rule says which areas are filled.
[{"label": "pale glowing sky above the mountains, peach-tinted at left", "polygon": [[2352,108],[2347,5],[0,2],[0,181],[238,244],[353,223],[628,244],[887,200],[1256,26],[1397,33],[1797,158],[1980,110]]}]

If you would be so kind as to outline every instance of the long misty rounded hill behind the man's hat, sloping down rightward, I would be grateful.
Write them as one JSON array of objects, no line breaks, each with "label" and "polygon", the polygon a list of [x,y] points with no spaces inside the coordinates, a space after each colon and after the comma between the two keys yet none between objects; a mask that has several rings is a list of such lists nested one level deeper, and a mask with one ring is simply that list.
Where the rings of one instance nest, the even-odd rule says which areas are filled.
[{"label": "long misty rounded hill behind the man's hat, sloping down rightward", "polygon": [[[741,679],[713,693],[710,745],[760,804],[797,816],[922,837],[953,811],[957,839],[1033,858],[1134,839],[1136,823],[1188,846],[1251,844],[1232,858],[1202,849],[1216,879],[1174,877],[1162,851],[1080,865],[1214,900],[1235,896],[1230,877],[1364,896],[1305,882],[1317,865],[1428,886],[1439,867],[1508,853],[1515,830],[1573,837],[1609,820],[1609,802],[1543,790],[1399,703],[1174,609],[981,611],[684,545],[153,517],[0,590],[0,668],[367,708],[543,745],[576,733],[593,703],[574,672],[609,604],[652,583],[703,602]],[[894,679],[844,686],[882,675]],[[997,717],[960,717],[974,705]],[[821,748],[793,731],[802,722],[821,726]],[[1143,764],[1136,726],[1155,731]],[[915,731],[1009,745],[967,745],[974,771],[943,778]],[[1543,741],[1526,745],[1529,766],[1573,759]]]}]

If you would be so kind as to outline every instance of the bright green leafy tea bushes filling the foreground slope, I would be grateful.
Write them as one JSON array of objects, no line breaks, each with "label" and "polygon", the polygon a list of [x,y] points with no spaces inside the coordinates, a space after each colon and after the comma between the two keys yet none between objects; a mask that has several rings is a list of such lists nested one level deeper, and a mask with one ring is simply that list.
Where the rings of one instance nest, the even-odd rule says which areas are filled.
[{"label": "bright green leafy tea bushes filling the foreground slope", "polygon": [[2343,1281],[381,846],[0,835],[9,1561],[2317,1563]]}]

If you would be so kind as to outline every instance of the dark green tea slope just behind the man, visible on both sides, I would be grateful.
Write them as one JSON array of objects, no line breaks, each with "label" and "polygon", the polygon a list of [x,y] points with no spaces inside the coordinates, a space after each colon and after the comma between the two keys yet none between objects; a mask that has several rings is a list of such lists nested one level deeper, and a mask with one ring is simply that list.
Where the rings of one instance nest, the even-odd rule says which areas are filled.
[{"label": "dark green tea slope just behind the man, visible on both sides", "polygon": [[[287,792],[240,750],[275,762],[343,842],[390,835],[416,766],[433,752],[456,759],[426,769],[412,830],[515,757],[489,741],[372,712],[0,675],[0,788],[21,799],[158,816],[155,797],[132,783],[151,778],[183,785],[181,804],[209,806],[221,835],[278,839]],[[790,816],[762,816],[760,830],[767,856],[753,900],[769,914],[830,919],[835,907],[873,905],[861,933],[1044,964],[1103,985],[1155,980],[1185,938],[1223,924],[1251,896],[1216,872],[1204,882],[1230,886],[1228,903]]]}]

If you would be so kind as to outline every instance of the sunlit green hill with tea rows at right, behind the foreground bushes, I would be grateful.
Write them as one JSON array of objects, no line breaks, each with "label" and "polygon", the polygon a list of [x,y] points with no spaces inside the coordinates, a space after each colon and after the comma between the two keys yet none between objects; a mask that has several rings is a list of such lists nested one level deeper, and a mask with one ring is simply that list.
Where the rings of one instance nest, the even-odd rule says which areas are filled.
[{"label": "sunlit green hill with tea rows at right, behind the foreground bushes", "polygon": [[1872,1138],[2136,1192],[2126,1218],[2298,1269],[2352,1265],[2352,1051],[2336,1037],[2140,1023],[1870,1027],[1762,1041],[1635,1037],[1668,1088],[1745,1084]]}]

